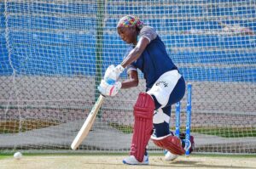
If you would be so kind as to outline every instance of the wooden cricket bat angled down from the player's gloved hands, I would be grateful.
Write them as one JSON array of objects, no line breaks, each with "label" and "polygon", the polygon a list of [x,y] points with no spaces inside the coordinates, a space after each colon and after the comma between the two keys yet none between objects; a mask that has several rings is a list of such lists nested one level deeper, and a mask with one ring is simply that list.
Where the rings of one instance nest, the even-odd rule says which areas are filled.
[{"label": "wooden cricket bat angled down from the player's gloved hands", "polygon": [[83,126],[79,130],[78,135],[76,136],[76,138],[74,138],[73,143],[71,144],[71,149],[74,149],[74,150],[77,149],[79,145],[83,142],[84,138],[86,138],[86,136],[90,132],[90,128],[92,127],[96,119],[96,115],[100,110],[104,99],[105,97],[101,94],[99,98],[96,100],[96,103],[93,105],[92,109],[90,110],[90,113],[87,119],[84,121]]}]

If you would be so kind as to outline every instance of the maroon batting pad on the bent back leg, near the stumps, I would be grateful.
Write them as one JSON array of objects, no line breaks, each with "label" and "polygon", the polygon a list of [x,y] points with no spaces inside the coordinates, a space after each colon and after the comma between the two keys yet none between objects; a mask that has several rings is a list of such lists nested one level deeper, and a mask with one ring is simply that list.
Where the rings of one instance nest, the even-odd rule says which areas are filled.
[{"label": "maroon batting pad on the bent back leg, near the stumps", "polygon": [[162,149],[167,149],[174,155],[183,155],[185,154],[185,150],[182,147],[181,139],[176,136],[168,135],[164,138],[153,138],[154,144],[159,146]]}]

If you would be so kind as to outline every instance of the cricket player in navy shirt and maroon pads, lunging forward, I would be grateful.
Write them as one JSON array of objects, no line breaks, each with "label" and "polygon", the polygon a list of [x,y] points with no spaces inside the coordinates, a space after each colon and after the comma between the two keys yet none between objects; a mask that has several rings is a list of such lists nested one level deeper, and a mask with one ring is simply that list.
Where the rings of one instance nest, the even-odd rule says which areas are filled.
[{"label": "cricket player in navy shirt and maroon pads, lunging forward", "polygon": [[[119,20],[119,37],[130,44],[120,65],[110,65],[98,90],[105,96],[114,96],[120,88],[137,87],[137,70],[143,72],[145,91],[139,93],[133,107],[134,127],[130,155],[124,164],[146,165],[146,146],[151,138],[157,146],[173,155],[183,155],[183,141],[169,129],[171,106],[183,99],[185,81],[177,66],[166,52],[160,37],[149,25],[132,15]],[[126,69],[128,79],[119,82],[119,75]]]}]

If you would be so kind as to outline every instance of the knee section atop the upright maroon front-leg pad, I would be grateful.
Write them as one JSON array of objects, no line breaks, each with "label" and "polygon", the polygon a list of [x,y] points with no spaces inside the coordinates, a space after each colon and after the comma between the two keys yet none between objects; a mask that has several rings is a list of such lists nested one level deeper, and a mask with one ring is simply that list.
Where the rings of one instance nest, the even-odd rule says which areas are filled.
[{"label": "knee section atop the upright maroon front-leg pad", "polygon": [[139,93],[134,105],[134,116],[152,119],[154,114],[154,99],[148,93]]}]

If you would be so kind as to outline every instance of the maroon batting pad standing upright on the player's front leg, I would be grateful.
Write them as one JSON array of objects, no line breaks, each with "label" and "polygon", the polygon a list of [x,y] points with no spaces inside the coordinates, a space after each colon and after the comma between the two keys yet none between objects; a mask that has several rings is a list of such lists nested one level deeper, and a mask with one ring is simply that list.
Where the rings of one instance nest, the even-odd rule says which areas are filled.
[{"label": "maroon batting pad standing upright on the player's front leg", "polygon": [[134,106],[135,117],[131,153],[142,162],[148,140],[153,131],[154,99],[148,93],[140,93]]}]

